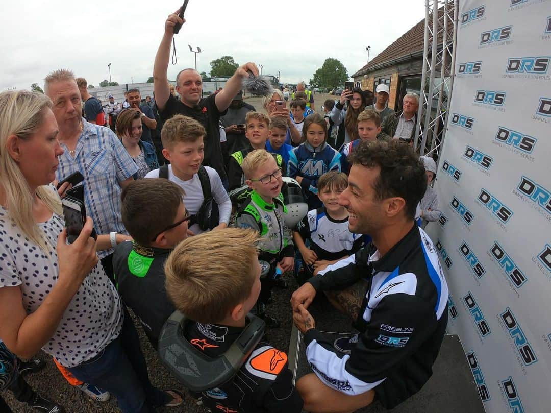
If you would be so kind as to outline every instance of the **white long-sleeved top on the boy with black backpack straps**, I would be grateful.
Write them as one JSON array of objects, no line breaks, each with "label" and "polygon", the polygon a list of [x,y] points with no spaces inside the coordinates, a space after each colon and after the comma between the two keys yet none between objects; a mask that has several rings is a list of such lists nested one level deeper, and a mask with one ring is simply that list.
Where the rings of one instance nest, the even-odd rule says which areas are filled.
[{"label": "white long-sleeved top on the boy with black backpack straps", "polygon": [[[213,199],[218,204],[218,210],[220,211],[220,220],[218,223],[225,222],[226,224],[230,222],[231,214],[231,201],[228,196],[228,192],[222,185],[222,180],[220,180],[220,175],[218,172],[210,167],[205,167],[207,174],[210,178],[210,192],[212,193]],[[154,169],[149,171],[145,178],[159,178],[159,169]],[[183,205],[185,205],[186,210],[195,215],[199,212],[201,204],[203,203],[203,190],[201,188],[201,180],[199,180],[199,175],[193,175],[193,178],[187,181],[182,181],[176,175],[172,173],[172,165],[169,165],[169,180],[174,182],[176,185],[179,185],[185,192],[185,195],[182,197]],[[190,230],[194,234],[201,234],[204,232],[199,228],[199,224],[193,224],[190,227]]]}]

